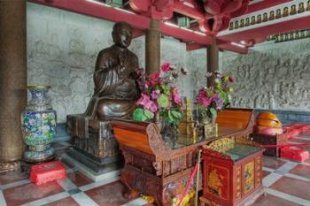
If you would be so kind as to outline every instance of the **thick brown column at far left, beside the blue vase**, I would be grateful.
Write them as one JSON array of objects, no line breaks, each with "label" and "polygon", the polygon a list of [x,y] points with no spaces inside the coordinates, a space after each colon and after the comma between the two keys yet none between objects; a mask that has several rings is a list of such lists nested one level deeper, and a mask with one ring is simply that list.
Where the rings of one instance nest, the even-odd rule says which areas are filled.
[{"label": "thick brown column at far left, beside the blue vase", "polygon": [[26,0],[0,0],[0,172],[19,168],[27,103]]}]

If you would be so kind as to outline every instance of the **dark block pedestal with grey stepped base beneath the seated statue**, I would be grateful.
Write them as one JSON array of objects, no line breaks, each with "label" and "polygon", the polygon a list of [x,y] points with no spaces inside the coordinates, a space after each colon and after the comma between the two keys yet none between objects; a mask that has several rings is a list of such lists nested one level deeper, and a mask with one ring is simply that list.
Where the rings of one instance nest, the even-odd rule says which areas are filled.
[{"label": "dark block pedestal with grey stepped base beneath the seated statue", "polygon": [[93,180],[123,166],[123,157],[119,144],[113,137],[110,121],[77,114],[68,115],[66,123],[67,131],[72,137],[73,149],[62,156],[65,162],[74,164]]}]

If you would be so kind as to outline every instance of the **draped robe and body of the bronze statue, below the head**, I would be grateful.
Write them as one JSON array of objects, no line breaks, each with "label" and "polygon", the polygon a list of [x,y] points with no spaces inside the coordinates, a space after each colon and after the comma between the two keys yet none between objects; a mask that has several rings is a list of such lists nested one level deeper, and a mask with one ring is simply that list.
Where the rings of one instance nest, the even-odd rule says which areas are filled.
[{"label": "draped robe and body of the bronze statue, below the head", "polygon": [[[113,46],[100,51],[94,72],[95,90],[84,115],[97,118],[99,103],[110,116],[121,118],[131,113],[136,105],[137,85],[131,73],[137,68],[137,57],[129,50],[115,50]],[[130,75],[123,75],[128,72]]]}]

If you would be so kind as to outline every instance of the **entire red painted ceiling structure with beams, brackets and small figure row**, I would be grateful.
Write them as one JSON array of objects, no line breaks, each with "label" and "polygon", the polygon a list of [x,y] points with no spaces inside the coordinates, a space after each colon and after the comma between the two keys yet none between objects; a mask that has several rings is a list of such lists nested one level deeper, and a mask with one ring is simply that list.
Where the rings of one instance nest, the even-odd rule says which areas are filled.
[{"label": "entire red painted ceiling structure with beams, brackets and small figure row", "polygon": [[[151,19],[160,32],[186,43],[187,50],[214,42],[221,50],[247,53],[267,36],[310,29],[310,0],[28,0],[110,21],[125,20],[134,37]],[[285,36],[284,36],[285,37]]]}]

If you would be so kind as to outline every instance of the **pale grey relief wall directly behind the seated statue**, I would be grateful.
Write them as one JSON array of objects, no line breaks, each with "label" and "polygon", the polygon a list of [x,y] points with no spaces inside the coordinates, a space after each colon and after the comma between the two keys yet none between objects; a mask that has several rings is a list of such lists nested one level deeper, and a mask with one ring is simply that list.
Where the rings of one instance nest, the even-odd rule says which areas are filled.
[{"label": "pale grey relief wall directly behind the seated statue", "polygon": [[[27,83],[50,85],[58,123],[67,114],[84,112],[93,93],[92,73],[97,53],[112,45],[112,22],[47,6],[27,3]],[[144,67],[144,36],[131,43]],[[186,52],[185,44],[163,38],[161,61],[185,67],[179,79],[182,95],[205,85],[205,50]]]}]

